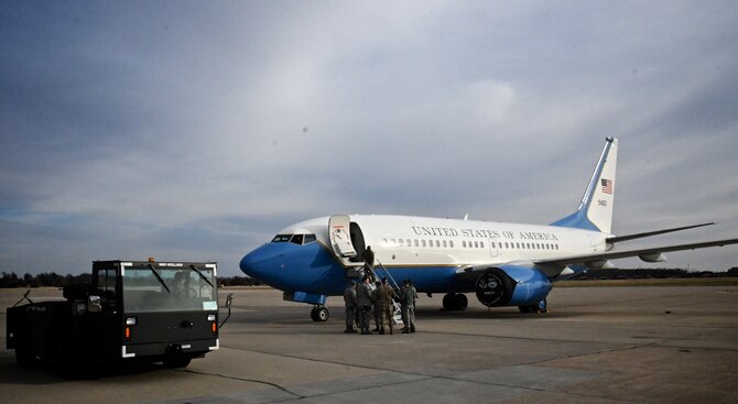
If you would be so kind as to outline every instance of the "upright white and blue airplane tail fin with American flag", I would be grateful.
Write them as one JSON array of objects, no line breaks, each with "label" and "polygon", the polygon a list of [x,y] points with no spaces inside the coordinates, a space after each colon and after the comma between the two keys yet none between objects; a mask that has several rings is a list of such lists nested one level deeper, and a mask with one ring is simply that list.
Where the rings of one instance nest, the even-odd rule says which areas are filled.
[{"label": "upright white and blue airplane tail fin with American flag", "polygon": [[605,149],[597,162],[579,208],[551,226],[573,227],[609,233],[612,230],[615,200],[615,168],[618,161],[618,140],[606,138]]}]

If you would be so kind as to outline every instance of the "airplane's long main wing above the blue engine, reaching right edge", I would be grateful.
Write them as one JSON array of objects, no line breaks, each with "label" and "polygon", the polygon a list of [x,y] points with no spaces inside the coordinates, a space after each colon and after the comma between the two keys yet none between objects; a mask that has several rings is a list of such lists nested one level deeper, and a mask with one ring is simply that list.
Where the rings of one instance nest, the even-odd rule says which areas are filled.
[{"label": "airplane's long main wing above the blue engine, reaching right edge", "polygon": [[[535,261],[534,264],[543,270],[543,272],[549,276],[556,276],[558,273],[566,267],[567,265],[588,265],[593,266],[594,263],[605,262],[607,260],[617,260],[622,258],[639,256],[641,260],[647,262],[659,262],[664,261],[661,259],[660,254],[670,251],[684,251],[684,250],[696,250],[704,249],[708,247],[723,247],[729,244],[738,244],[738,239],[726,239],[726,240],[715,240],[715,241],[703,241],[695,242],[690,244],[676,244],[676,245],[664,245],[664,247],[651,247],[645,249],[637,250],[622,250],[622,251],[608,251],[599,254],[582,254],[582,255],[572,255],[564,258],[556,258],[552,260],[541,260]],[[594,265],[597,266],[597,265]]]}]

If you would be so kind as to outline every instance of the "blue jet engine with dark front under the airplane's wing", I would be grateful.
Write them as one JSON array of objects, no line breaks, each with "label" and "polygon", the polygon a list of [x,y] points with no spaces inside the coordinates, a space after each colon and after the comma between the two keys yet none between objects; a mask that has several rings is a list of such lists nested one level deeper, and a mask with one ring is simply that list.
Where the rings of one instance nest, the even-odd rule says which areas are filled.
[{"label": "blue jet engine with dark front under the airplane's wing", "polygon": [[488,307],[535,305],[551,292],[551,281],[541,271],[522,265],[490,267],[477,277],[477,299]]}]

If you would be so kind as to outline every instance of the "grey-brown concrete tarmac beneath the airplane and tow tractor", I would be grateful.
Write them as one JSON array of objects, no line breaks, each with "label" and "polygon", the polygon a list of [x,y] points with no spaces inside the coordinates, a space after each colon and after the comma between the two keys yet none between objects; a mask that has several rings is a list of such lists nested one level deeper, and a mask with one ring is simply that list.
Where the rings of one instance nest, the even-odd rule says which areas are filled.
[{"label": "grey-brown concrete tarmac beneath the airplane and tow tractor", "polygon": [[[23,290],[0,290],[12,306]],[[344,334],[279,291],[235,293],[220,350],[185,370],[99,370],[80,380],[20,368],[0,314],[8,403],[737,403],[738,286],[555,287],[550,314],[444,312],[421,295],[417,332]],[[43,295],[43,296],[42,296]],[[59,297],[34,290],[31,297]]]}]

